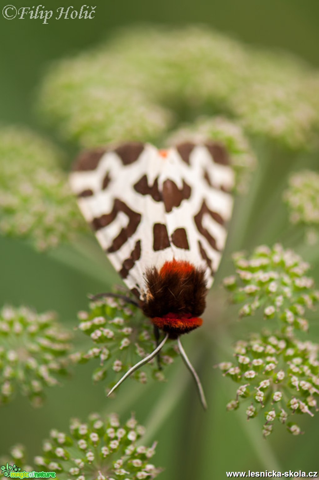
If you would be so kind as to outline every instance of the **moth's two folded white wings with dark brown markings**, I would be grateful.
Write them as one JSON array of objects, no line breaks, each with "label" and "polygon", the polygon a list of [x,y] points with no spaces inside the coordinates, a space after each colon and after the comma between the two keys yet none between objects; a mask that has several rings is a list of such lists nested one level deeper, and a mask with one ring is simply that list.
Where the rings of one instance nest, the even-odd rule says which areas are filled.
[{"label": "moth's two folded white wings with dark brown markings", "polygon": [[233,171],[226,160],[225,150],[213,143],[167,151],[128,143],[79,158],[72,190],[135,294],[144,295],[147,268],[172,259],[204,267],[210,287],[233,207]]}]

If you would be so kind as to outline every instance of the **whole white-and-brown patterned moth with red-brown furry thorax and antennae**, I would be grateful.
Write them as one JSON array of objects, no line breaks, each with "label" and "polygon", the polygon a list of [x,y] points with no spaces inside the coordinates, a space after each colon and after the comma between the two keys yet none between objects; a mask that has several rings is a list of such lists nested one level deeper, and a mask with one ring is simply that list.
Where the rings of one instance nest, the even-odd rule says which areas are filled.
[{"label": "whole white-and-brown patterned moth with red-brown furry thorax and antennae", "polygon": [[171,338],[177,339],[206,408],[180,336],[202,324],[226,242],[234,173],[225,147],[209,141],[166,150],[140,142],[96,148],[78,157],[70,183],[100,246],[158,338],[157,348],[110,393]]}]

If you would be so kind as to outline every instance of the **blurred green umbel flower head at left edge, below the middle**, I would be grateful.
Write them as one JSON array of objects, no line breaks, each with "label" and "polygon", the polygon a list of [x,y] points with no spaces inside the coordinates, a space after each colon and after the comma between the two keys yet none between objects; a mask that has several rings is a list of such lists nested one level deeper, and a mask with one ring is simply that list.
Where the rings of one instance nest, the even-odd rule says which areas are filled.
[{"label": "blurred green umbel flower head at left edge, below the middle", "polygon": [[37,314],[26,307],[0,310],[0,405],[16,391],[40,406],[47,387],[65,376],[70,334],[55,314]]}]

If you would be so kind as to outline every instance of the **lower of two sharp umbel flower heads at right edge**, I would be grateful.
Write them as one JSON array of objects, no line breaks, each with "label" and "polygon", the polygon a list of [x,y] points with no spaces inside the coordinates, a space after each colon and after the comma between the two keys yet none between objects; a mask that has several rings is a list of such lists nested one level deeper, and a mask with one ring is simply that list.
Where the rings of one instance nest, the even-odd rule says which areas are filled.
[{"label": "lower of two sharp umbel flower heads at right edge", "polygon": [[248,420],[264,412],[265,436],[276,421],[298,435],[301,429],[296,414],[313,417],[318,411],[318,351],[319,346],[312,342],[269,332],[237,342],[235,361],[219,364],[223,374],[239,384],[227,409],[234,410],[245,402]]}]

